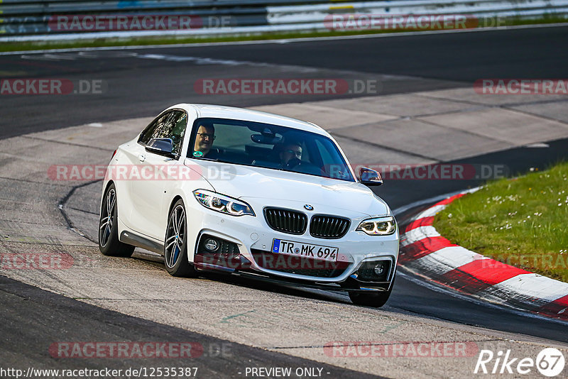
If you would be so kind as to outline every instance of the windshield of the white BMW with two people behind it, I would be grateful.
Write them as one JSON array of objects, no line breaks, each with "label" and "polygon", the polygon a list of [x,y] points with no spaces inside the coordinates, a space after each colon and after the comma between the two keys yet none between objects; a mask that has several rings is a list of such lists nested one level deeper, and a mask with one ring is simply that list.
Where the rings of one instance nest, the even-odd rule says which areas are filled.
[{"label": "windshield of the white BMW with two people behind it", "polygon": [[354,182],[331,139],[268,123],[197,119],[187,156]]}]

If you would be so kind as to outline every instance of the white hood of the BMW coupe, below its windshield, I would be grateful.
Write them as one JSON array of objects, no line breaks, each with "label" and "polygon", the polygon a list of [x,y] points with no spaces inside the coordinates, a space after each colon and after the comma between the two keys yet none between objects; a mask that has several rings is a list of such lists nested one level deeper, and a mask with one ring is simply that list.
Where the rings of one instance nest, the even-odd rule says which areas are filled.
[{"label": "white hood of the BMW coupe, below its windshield", "polygon": [[[196,161],[192,160],[186,165],[195,168]],[[391,210],[382,199],[358,182],[217,162],[200,161],[197,165],[200,166],[202,176],[214,187],[215,192],[244,201],[270,199],[270,202],[263,203],[278,205],[278,201],[281,204],[297,202],[301,203],[300,207],[303,207],[303,204],[310,204],[315,207],[315,212],[338,209],[348,211],[349,214],[357,213],[364,216],[391,214]]]}]

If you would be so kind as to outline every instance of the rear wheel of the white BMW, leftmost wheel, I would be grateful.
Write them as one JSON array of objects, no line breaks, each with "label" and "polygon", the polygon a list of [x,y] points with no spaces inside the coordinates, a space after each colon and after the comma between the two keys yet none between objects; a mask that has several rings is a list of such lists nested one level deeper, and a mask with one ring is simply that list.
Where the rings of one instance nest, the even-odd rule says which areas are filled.
[{"label": "rear wheel of the white BMW, leftmost wheel", "polygon": [[125,257],[132,256],[134,246],[119,241],[119,218],[117,216],[116,187],[114,183],[104,194],[99,219],[99,250],[105,256]]}]

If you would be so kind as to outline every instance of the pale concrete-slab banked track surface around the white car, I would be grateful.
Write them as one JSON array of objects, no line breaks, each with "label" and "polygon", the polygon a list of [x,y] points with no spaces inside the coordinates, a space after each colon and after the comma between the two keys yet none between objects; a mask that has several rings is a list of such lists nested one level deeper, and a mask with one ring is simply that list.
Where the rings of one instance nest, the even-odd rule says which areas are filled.
[{"label": "pale concrete-slab banked track surface around the white car", "polygon": [[[483,96],[467,88],[256,109],[320,124],[351,163],[416,165],[568,137],[567,101],[552,95]],[[0,141],[3,257],[59,254],[70,263],[53,270],[2,265],[0,275],[160,324],[390,378],[471,376],[482,349],[510,349],[517,358],[534,359],[543,348],[557,347],[568,356],[568,345],[388,306],[356,307],[343,295],[299,296],[248,282],[171,278],[160,258],[141,250],[133,259],[102,256],[92,242],[101,182],[52,180],[48,168],[106,165],[116,145],[149,121],[92,120],[90,126]]]}]

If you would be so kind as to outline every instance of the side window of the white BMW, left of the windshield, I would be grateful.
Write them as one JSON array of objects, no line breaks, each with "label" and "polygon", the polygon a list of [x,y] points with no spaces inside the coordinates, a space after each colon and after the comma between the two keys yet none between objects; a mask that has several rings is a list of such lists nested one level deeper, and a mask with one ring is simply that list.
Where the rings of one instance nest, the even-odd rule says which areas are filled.
[{"label": "side window of the white BMW, left of the windshield", "polygon": [[172,153],[179,154],[186,128],[187,114],[184,111],[170,111],[148,125],[138,138],[138,142],[147,145],[152,138],[171,138]]}]

